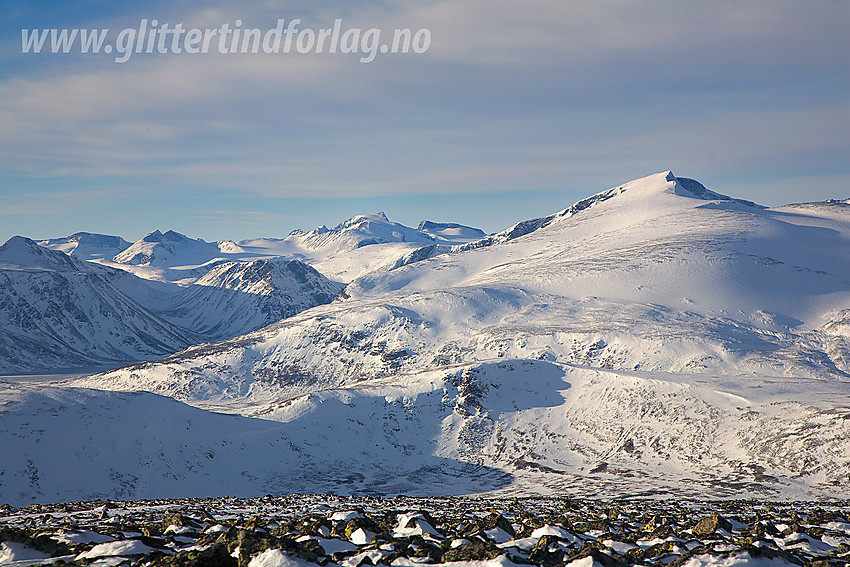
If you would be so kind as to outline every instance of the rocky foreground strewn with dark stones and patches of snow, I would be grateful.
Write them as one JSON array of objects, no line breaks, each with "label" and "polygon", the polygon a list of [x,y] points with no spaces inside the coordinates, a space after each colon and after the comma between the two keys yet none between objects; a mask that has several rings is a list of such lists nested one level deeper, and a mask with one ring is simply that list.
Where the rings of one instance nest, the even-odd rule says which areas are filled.
[{"label": "rocky foreground strewn with dark stones and patches of snow", "polygon": [[850,502],[96,501],[0,509],[2,565],[847,565]]}]

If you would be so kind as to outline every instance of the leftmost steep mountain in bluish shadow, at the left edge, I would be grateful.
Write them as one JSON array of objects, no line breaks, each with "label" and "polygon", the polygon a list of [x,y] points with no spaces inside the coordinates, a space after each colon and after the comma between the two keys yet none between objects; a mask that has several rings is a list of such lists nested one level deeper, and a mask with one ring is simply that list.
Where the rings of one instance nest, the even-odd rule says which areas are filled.
[{"label": "leftmost steep mountain in bluish shadow, at the left edge", "polygon": [[0,246],[0,373],[147,360],[200,341],[119,291],[131,278],[23,237]]}]

